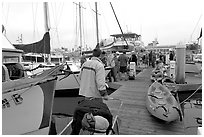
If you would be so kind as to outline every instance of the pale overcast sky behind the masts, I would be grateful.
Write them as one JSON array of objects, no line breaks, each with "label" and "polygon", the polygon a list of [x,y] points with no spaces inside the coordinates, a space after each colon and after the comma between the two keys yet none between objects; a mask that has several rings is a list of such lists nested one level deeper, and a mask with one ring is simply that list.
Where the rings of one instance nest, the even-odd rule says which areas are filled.
[{"label": "pale overcast sky behind the masts", "polygon": [[[51,1],[49,5],[51,48],[79,46],[79,16],[74,1]],[[78,3],[79,1],[75,1]],[[96,46],[95,1],[82,0],[82,46]],[[203,23],[202,0],[113,0],[111,1],[123,32],[142,36],[146,46],[157,38],[159,45],[195,41]],[[109,1],[97,1],[99,39],[121,33]],[[41,1],[2,1],[2,24],[7,38],[17,43],[42,39],[45,33]],[[77,18],[77,20],[76,20]],[[76,28],[78,31],[76,31]],[[76,33],[77,32],[77,33]]]}]

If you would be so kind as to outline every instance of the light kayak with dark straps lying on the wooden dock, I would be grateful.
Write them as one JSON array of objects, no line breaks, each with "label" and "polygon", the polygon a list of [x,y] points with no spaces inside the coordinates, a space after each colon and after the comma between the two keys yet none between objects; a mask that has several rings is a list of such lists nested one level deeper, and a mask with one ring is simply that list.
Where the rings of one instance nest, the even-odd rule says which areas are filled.
[{"label": "light kayak with dark straps lying on the wooden dock", "polygon": [[151,115],[171,122],[182,117],[179,104],[168,88],[155,81],[148,89],[146,108]]}]

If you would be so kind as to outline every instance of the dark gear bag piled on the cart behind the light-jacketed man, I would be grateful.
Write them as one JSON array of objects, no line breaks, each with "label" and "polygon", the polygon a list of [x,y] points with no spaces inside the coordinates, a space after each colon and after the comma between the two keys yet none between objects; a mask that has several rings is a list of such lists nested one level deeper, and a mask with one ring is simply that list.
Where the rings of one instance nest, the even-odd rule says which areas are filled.
[{"label": "dark gear bag piled on the cart behind the light-jacketed man", "polygon": [[[80,130],[84,128],[84,119],[85,116],[101,116],[108,121],[108,127],[105,129],[105,133],[108,134],[110,130],[112,130],[112,119],[113,116],[108,108],[108,106],[98,99],[84,99],[79,102],[78,106],[74,111],[73,122],[72,122],[72,135],[77,135],[80,133]],[[104,122],[104,121],[103,121]],[[97,133],[98,129],[96,125],[97,121],[88,121],[88,129],[92,133]],[[104,122],[106,123],[106,122]],[[85,124],[86,125],[86,124]],[[104,125],[103,125],[104,126]]]}]

